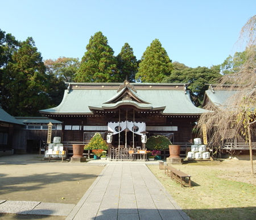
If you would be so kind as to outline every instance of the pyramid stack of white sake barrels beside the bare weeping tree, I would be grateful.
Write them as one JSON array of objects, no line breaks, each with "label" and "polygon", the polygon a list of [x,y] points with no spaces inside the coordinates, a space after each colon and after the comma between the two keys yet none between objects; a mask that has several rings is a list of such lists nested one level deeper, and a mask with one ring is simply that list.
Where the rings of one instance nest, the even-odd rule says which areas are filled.
[{"label": "pyramid stack of white sake barrels beside the bare weeping tree", "polygon": [[188,152],[187,158],[189,160],[210,158],[210,153],[207,152],[206,146],[202,145],[200,138],[194,139],[194,144],[191,145],[191,151]]}]

